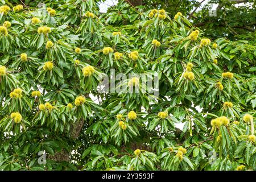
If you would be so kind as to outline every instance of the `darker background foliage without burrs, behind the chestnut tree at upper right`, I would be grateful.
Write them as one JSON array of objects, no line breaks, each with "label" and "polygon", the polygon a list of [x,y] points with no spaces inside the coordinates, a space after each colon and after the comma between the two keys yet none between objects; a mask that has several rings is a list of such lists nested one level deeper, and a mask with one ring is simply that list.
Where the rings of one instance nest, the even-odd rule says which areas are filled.
[{"label": "darker background foliage without burrs, behind the chestnut tree at upper right", "polygon": [[206,36],[255,43],[256,1],[254,0],[125,0],[143,9],[164,9],[171,16],[187,15]]}]

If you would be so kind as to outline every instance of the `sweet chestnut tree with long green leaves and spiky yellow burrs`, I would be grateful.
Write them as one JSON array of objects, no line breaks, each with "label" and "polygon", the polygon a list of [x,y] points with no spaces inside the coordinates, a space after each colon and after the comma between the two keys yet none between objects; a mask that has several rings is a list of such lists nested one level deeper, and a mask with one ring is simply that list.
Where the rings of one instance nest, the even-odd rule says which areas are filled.
[{"label": "sweet chestnut tree with long green leaves and spiky yellow burrs", "polygon": [[[19,2],[0,1],[1,170],[256,170],[253,44],[123,1]],[[99,92],[112,69],[138,93]]]}]

